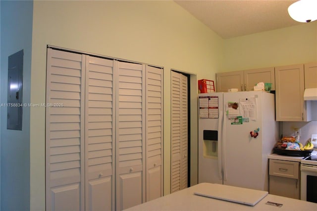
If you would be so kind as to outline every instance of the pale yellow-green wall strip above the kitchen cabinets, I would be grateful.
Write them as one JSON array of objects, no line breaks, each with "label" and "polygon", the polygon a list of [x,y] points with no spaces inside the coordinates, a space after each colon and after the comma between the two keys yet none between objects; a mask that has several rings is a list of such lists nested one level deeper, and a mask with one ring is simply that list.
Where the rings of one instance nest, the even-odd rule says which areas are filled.
[{"label": "pale yellow-green wall strip above the kitchen cabinets", "polygon": [[317,21],[225,40],[221,72],[317,62]]}]

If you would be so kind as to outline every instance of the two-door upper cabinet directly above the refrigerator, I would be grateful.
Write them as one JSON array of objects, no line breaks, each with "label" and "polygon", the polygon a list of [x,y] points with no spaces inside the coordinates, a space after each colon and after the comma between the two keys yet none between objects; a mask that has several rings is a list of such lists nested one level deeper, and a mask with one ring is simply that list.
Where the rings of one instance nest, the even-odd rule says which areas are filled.
[{"label": "two-door upper cabinet directly above the refrigerator", "polygon": [[230,88],[253,91],[259,82],[272,83],[271,90],[275,90],[274,67],[216,73],[216,82],[217,92],[227,92]]}]

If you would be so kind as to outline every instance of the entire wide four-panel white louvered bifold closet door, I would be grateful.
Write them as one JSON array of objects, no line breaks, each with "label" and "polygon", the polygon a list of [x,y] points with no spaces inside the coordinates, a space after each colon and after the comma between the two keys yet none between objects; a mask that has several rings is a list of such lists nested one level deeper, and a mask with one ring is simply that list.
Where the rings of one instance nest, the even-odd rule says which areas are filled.
[{"label": "entire wide four-panel white louvered bifold closet door", "polygon": [[48,49],[46,209],[162,196],[162,69]]}]

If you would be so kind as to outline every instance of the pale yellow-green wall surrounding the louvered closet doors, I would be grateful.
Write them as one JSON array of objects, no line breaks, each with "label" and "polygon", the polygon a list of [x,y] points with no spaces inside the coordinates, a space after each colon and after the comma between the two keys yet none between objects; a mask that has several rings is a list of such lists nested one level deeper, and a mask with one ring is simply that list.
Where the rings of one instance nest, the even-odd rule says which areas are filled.
[{"label": "pale yellow-green wall surrounding the louvered closet doors", "polygon": [[[223,40],[173,1],[34,1],[33,14],[31,103],[45,103],[47,45],[164,67],[164,193],[169,193],[170,69],[191,73],[195,80],[214,79]],[[197,94],[197,87],[192,91]],[[197,96],[192,101],[197,128]],[[45,208],[44,108],[31,108],[30,125],[35,211]],[[195,169],[197,144],[193,159]],[[197,172],[192,180],[197,181]]]}]

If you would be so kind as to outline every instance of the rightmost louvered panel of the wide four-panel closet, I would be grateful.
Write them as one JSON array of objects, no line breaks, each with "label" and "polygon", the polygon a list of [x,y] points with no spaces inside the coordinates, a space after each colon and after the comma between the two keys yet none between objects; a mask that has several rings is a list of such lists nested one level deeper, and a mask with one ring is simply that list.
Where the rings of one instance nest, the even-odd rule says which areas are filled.
[{"label": "rightmost louvered panel of the wide four-panel closet", "polygon": [[163,74],[146,66],[146,201],[162,196]]}]

